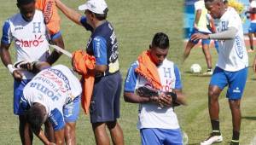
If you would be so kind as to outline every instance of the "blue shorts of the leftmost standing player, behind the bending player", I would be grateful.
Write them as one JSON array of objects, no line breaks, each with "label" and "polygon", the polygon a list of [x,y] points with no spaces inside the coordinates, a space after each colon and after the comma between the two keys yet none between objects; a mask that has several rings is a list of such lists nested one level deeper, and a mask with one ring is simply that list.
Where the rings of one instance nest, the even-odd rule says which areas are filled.
[{"label": "blue shorts of the leftmost standing player, behind the bending player", "polygon": [[21,81],[14,82],[14,113],[15,115],[23,114],[23,109],[20,108],[20,98],[23,95],[23,90],[26,84],[31,79],[22,79]]}]

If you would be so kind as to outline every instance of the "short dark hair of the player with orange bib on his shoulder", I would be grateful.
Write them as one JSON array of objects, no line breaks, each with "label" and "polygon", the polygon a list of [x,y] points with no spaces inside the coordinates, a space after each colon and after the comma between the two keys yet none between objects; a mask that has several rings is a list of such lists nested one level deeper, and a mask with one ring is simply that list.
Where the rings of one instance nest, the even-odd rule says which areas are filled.
[{"label": "short dark hair of the player with orange bib on his shoulder", "polygon": [[154,38],[152,40],[152,47],[158,47],[160,49],[168,49],[169,48],[169,38],[163,32],[157,32],[154,34]]}]

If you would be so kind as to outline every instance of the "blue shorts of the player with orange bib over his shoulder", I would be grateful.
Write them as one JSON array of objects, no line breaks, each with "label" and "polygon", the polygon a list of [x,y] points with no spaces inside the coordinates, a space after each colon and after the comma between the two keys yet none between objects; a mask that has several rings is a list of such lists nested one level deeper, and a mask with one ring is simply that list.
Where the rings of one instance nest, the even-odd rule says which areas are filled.
[{"label": "blue shorts of the player with orange bib over his shoulder", "polygon": [[183,145],[183,135],[180,129],[150,129],[140,130],[142,145]]}]

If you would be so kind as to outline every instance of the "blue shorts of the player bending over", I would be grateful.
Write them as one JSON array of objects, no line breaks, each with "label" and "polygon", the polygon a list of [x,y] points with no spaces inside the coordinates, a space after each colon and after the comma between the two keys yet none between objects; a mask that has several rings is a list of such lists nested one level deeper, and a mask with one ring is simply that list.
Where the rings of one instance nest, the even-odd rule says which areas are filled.
[{"label": "blue shorts of the player bending over", "polygon": [[65,122],[76,122],[79,119],[81,96],[77,96],[73,102],[63,107]]}]

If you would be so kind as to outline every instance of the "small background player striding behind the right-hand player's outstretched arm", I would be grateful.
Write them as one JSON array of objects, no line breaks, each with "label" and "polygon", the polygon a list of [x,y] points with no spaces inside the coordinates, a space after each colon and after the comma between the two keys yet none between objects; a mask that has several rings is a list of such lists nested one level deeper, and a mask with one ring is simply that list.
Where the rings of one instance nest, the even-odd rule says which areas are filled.
[{"label": "small background player striding behind the right-hand player's outstretched arm", "polygon": [[[195,5],[195,22],[194,22],[194,28],[191,33],[191,36],[197,32],[200,32],[202,34],[212,33],[207,27],[208,12],[207,12],[207,9],[205,8],[204,1],[198,0],[195,2],[194,5]],[[183,52],[183,61],[185,61],[189,57],[191,49],[193,49],[195,44],[198,44],[198,42],[199,40],[193,41],[191,40],[191,37],[189,38],[189,42],[187,43],[186,48]],[[206,75],[212,75],[212,56],[210,54],[209,44],[210,44],[210,39],[201,40],[202,50],[207,61],[207,73],[204,73]]]}]

